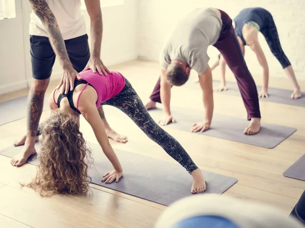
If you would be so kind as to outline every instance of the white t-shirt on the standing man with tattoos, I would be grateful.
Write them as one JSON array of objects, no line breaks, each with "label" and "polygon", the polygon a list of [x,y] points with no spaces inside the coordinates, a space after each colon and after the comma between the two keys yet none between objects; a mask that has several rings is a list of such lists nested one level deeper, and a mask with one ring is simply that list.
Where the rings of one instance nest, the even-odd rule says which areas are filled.
[{"label": "white t-shirt on the standing man with tattoos", "polygon": [[[86,34],[86,26],[81,15],[80,0],[46,0],[52,10],[64,40],[73,39]],[[31,13],[29,34],[49,37],[41,20]]]}]

